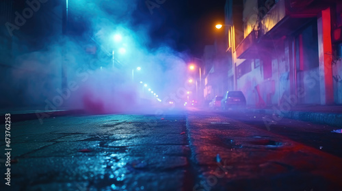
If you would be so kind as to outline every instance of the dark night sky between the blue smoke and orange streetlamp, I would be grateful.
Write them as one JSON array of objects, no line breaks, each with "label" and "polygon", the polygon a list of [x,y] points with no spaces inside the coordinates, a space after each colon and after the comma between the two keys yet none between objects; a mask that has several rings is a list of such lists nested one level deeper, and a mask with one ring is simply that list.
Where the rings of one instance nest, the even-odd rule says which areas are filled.
[{"label": "dark night sky between the blue smoke and orange streetlamp", "polygon": [[150,26],[151,48],[163,44],[201,57],[205,45],[213,44],[215,23],[224,21],[225,0],[166,0],[153,14],[140,1],[133,14],[135,25]]}]

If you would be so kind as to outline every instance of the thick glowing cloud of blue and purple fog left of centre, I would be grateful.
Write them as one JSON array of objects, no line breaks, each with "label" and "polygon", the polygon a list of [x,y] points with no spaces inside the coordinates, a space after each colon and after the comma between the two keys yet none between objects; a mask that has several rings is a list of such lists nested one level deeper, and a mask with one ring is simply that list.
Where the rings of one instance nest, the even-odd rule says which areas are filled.
[{"label": "thick glowing cloud of blue and purple fog left of centre", "polygon": [[[16,95],[8,95],[3,106],[153,114],[183,105],[186,91],[194,90],[186,83],[189,55],[167,43],[148,48],[156,25],[133,26],[136,6],[137,0],[70,1],[69,19],[83,15],[86,30],[75,35],[69,22],[67,35],[57,33],[40,50],[16,55],[8,76]],[[169,104],[172,99],[176,104]]]}]

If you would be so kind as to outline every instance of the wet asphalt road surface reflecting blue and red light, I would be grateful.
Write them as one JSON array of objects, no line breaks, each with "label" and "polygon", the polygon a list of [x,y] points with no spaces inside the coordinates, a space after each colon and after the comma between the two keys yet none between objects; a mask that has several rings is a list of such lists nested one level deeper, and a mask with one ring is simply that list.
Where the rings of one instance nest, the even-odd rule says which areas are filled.
[{"label": "wet asphalt road surface reflecting blue and red light", "polygon": [[337,128],[265,119],[192,109],[12,123],[11,186],[0,189],[342,190]]}]

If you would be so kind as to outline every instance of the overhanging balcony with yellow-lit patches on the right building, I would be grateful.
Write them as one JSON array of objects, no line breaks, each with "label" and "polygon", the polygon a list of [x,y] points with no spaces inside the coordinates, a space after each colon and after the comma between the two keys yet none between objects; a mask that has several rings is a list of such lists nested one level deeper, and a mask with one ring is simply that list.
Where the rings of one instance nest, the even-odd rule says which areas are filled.
[{"label": "overhanging balcony with yellow-lit patches on the right building", "polygon": [[[258,59],[272,53],[274,40],[287,36],[317,19],[321,10],[337,0],[280,0],[260,20],[260,30],[252,31],[236,48],[238,59]],[[338,33],[338,31],[337,31]],[[261,53],[261,54],[260,54]]]}]

